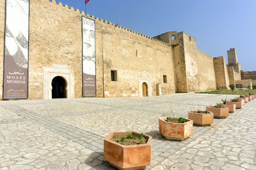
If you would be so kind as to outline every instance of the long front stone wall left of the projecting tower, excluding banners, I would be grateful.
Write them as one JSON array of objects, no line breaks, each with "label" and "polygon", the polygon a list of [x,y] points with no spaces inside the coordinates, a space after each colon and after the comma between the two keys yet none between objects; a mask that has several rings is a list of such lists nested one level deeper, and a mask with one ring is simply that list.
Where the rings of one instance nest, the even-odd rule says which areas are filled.
[{"label": "long front stone wall left of the projecting tower, excluding banners", "polygon": [[[0,48],[4,39],[4,0],[0,1]],[[51,80],[63,76],[68,97],[82,97],[82,31],[79,10],[45,0],[30,1],[29,99],[49,99]],[[175,93],[172,48],[157,39],[95,19],[97,97],[141,96],[141,83],[148,83],[149,96]],[[0,69],[3,70],[3,52]],[[104,64],[103,64],[104,63]],[[118,81],[111,81],[111,70]],[[167,83],[163,83],[163,75]],[[3,72],[0,72],[3,85]],[[50,78],[49,78],[50,77]],[[1,86],[1,95],[3,87]]]}]

